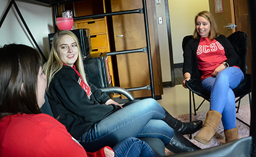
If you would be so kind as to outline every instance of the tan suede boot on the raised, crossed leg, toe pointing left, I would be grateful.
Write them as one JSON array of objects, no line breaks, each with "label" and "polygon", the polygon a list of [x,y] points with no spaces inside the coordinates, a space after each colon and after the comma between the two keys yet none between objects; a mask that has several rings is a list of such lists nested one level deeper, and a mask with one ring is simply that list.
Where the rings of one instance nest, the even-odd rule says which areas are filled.
[{"label": "tan suede boot on the raised, crossed leg, toe pointing left", "polygon": [[202,130],[200,130],[197,133],[194,139],[200,143],[208,145],[218,128],[220,119],[221,119],[221,113],[215,110],[209,110],[207,112]]}]

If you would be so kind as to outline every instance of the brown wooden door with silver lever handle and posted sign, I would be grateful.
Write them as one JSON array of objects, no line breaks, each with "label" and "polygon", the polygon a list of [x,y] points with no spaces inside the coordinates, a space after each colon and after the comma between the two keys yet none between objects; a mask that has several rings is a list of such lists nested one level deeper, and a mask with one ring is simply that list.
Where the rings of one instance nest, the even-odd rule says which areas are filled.
[{"label": "brown wooden door with silver lever handle and posted sign", "polygon": [[[223,3],[223,12],[216,12],[215,9],[220,7],[215,7],[215,2]],[[248,14],[248,4],[244,0],[209,0],[210,12],[218,26],[220,34],[228,37],[234,31],[244,31],[248,36],[248,47],[247,47],[247,66],[248,73],[251,73],[251,44],[250,44],[250,25],[249,25],[249,14]],[[237,25],[236,28],[228,29],[229,23]]]}]

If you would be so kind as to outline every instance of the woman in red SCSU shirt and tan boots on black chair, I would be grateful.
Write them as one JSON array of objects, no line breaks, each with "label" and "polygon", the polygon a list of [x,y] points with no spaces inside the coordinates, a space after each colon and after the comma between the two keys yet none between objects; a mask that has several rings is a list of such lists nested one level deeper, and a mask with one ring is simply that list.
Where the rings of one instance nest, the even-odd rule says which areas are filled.
[{"label": "woman in red SCSU shirt and tan boots on black chair", "polygon": [[205,89],[211,91],[211,99],[204,127],[194,139],[208,144],[222,119],[226,142],[230,142],[238,139],[232,89],[241,83],[244,74],[236,66],[238,58],[233,46],[218,34],[212,14],[199,12],[195,24],[193,38],[184,47],[183,86],[186,88],[185,81],[191,78],[200,79]]}]

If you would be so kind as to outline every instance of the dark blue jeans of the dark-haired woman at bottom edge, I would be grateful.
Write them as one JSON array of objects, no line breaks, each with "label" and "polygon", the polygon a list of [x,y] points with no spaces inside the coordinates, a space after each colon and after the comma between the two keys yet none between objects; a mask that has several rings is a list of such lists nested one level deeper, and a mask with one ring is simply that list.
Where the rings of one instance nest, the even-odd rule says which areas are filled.
[{"label": "dark blue jeans of the dark-haired woman at bottom edge", "polygon": [[115,157],[154,157],[154,151],[147,145],[146,142],[136,139],[135,137],[128,137],[115,145],[113,148]]}]

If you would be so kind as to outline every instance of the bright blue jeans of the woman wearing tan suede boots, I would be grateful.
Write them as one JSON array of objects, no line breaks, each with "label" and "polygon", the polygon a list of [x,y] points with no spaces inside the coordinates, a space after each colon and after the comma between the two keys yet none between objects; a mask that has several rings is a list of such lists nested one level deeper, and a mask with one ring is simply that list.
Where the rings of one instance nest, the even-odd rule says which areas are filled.
[{"label": "bright blue jeans of the woman wearing tan suede boots", "polygon": [[222,114],[225,130],[236,127],[236,100],[232,89],[236,88],[244,79],[239,68],[229,67],[220,71],[216,78],[209,77],[202,81],[203,86],[211,91],[210,110]]}]

